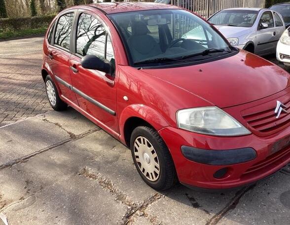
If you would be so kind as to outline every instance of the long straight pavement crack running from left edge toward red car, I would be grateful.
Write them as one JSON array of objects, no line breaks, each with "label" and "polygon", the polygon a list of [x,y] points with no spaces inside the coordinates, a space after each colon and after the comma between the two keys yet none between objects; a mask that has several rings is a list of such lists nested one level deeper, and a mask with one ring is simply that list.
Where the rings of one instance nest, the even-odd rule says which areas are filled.
[{"label": "long straight pavement crack running from left edge toward red car", "polygon": [[43,152],[47,152],[48,150],[54,149],[54,148],[59,147],[59,146],[61,146],[63,144],[66,144],[68,142],[72,142],[72,141],[78,140],[78,139],[83,138],[83,137],[85,137],[85,136],[87,136],[87,135],[89,135],[89,134],[91,134],[91,133],[93,133],[95,131],[98,131],[98,130],[100,130],[100,128],[90,129],[90,130],[88,130],[86,132],[83,132],[83,133],[81,133],[79,135],[76,135],[74,138],[69,138],[69,139],[66,139],[64,141],[58,142],[58,143],[56,143],[54,145],[51,145],[51,146],[46,147],[44,149],[38,150],[38,151],[36,151],[36,152],[34,152],[32,154],[29,154],[29,155],[26,155],[24,157],[18,158],[16,160],[8,161],[7,163],[4,163],[4,164],[0,165],[0,170],[5,169],[5,168],[11,168],[11,167],[13,167],[15,165],[18,165],[20,163],[27,162],[31,158],[33,158],[33,157],[35,157],[35,156],[37,156],[37,155],[39,155],[39,154],[41,154]]}]

